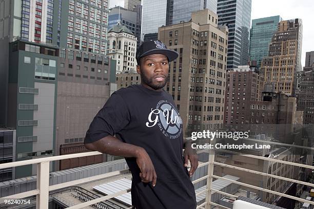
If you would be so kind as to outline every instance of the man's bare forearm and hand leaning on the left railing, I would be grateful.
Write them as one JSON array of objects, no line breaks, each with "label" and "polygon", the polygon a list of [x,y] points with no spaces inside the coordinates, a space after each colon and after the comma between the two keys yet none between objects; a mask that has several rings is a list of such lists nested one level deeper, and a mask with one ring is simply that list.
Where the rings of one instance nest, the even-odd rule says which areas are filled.
[{"label": "man's bare forearm and hand leaning on the left railing", "polygon": [[85,147],[88,150],[98,151],[109,155],[136,158],[136,163],[141,170],[140,177],[142,178],[142,181],[152,181],[152,185],[155,186],[157,174],[154,165],[144,148],[124,143],[111,135],[91,143],[86,143]]}]

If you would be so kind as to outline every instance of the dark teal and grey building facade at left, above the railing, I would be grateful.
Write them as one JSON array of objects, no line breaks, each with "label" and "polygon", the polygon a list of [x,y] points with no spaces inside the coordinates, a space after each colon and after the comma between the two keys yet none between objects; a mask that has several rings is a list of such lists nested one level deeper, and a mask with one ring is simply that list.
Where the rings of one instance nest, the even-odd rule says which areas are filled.
[{"label": "dark teal and grey building facade at left, above the railing", "polygon": [[[17,40],[9,61],[8,126],[16,128],[16,161],[52,156],[58,48]],[[15,178],[34,174],[36,165],[18,166]]]}]

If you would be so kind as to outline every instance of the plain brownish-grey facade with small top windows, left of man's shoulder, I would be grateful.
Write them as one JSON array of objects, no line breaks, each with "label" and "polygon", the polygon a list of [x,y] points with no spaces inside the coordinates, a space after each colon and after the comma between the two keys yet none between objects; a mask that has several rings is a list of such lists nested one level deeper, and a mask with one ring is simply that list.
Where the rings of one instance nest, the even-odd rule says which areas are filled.
[{"label": "plain brownish-grey facade with small top windows, left of man's shoulder", "polygon": [[[55,155],[82,152],[89,124],[109,98],[114,88],[112,84],[115,86],[115,62],[107,55],[60,50]],[[101,158],[106,160],[106,155]],[[58,161],[54,170],[66,169],[68,166],[73,168],[74,165],[82,164],[82,160],[84,158],[72,159],[71,163],[68,160]]]}]

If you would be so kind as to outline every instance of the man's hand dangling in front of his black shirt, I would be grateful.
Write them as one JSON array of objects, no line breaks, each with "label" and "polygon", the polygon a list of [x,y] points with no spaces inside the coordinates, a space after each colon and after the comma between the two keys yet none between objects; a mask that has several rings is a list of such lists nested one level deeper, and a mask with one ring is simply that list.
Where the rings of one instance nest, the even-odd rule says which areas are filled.
[{"label": "man's hand dangling in front of his black shirt", "polygon": [[157,174],[155,172],[154,165],[144,149],[141,149],[136,154],[136,163],[141,170],[140,177],[143,182],[148,183],[152,181],[152,185],[156,185]]}]

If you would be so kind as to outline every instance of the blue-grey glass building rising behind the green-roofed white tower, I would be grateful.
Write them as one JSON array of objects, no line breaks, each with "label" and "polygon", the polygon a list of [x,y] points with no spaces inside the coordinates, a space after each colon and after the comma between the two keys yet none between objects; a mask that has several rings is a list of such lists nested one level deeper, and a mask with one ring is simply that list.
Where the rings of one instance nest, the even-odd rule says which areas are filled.
[{"label": "blue-grey glass building rising behind the green-roofed white tower", "polygon": [[141,23],[142,23],[142,6],[137,5],[132,10],[123,7],[114,7],[109,12],[108,29],[121,24],[132,32],[138,42],[136,46],[141,45]]}]

